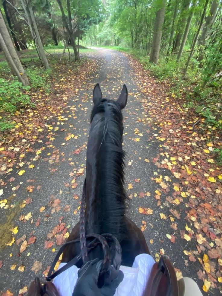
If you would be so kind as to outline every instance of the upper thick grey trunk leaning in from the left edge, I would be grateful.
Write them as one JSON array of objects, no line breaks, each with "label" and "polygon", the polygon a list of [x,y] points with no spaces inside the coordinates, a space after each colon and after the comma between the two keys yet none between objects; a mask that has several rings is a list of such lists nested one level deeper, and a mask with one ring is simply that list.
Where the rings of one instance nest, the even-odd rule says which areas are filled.
[{"label": "upper thick grey trunk leaning in from the left edge", "polygon": [[18,77],[23,85],[29,85],[28,78],[5,25],[2,12],[0,12],[0,43],[12,73]]}]

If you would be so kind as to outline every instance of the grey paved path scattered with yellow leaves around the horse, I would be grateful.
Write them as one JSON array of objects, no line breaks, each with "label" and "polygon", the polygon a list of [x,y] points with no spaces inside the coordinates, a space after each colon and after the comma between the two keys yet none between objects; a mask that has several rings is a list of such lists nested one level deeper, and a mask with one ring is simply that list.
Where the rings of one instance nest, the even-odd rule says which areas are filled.
[{"label": "grey paved path scattered with yellow leaves around the horse", "polygon": [[[36,236],[36,241],[28,245],[21,254],[19,251],[22,242],[18,246],[16,243],[8,246],[0,253],[0,259],[4,261],[1,268],[0,287],[3,291],[10,289],[14,295],[18,294],[19,289],[28,286],[34,278],[35,273],[31,268],[36,260],[42,263],[42,268],[37,272],[37,275],[43,278],[42,272],[50,265],[59,249],[54,236],[51,239],[54,242],[51,248],[44,250],[44,243],[46,240],[49,241],[47,234],[50,232],[53,234],[52,230],[59,224],[59,219],[63,217],[62,223],[65,225],[62,224],[62,227],[68,227],[68,232],[78,222],[80,198],[77,199],[77,196],[81,196],[85,171],[83,170],[83,175],[78,177],[76,177],[76,172],[85,168],[86,148],[84,145],[87,144],[89,117],[93,105],[92,90],[97,82],[100,83],[104,96],[113,99],[118,97],[124,83],[128,87],[128,103],[123,111],[125,118],[124,149],[127,152],[125,183],[126,188],[128,184],[133,185],[133,188],[127,191],[132,198],[132,204],[127,213],[128,217],[135,221],[138,227],[141,227],[142,220],[147,223],[144,235],[154,257],[159,256],[160,249],[163,249],[165,254],[170,256],[179,272],[182,272],[182,275],[196,278],[198,264],[189,262],[189,265],[185,266],[183,250],[187,249],[188,245],[184,245],[186,241],[180,239],[179,231],[177,232],[178,239],[174,244],[166,238],[166,234],[173,233],[170,228],[171,221],[170,219],[161,220],[159,213],[162,212],[169,216],[169,204],[165,203],[157,208],[157,200],[154,199],[154,192],[158,188],[151,177],[156,177],[157,173],[169,176],[169,178],[173,178],[173,176],[169,170],[159,169],[152,162],[159,151],[159,143],[155,142],[155,139],[148,141],[152,132],[155,131],[151,129],[151,123],[148,123],[149,118],[143,107],[143,103],[147,100],[152,102],[152,98],[148,99],[141,94],[129,60],[122,53],[100,49],[94,53],[94,56],[99,58],[97,73],[93,77],[89,77],[82,85],[78,96],[70,99],[67,112],[59,114],[58,111],[57,118],[53,120],[54,124],[51,124],[53,129],[49,129],[48,134],[41,139],[42,142],[36,143],[33,147],[35,151],[30,152],[26,159],[23,159],[26,165],[22,169],[26,170],[27,168],[26,173],[18,177],[17,173],[21,168],[17,168],[5,176],[6,180],[15,177],[15,180],[4,188],[5,198],[11,204],[14,203],[15,207],[14,209],[1,210],[1,223],[8,221],[9,224],[13,224],[15,221],[13,227],[18,226],[18,233],[14,235],[16,240],[23,235],[26,235],[27,241],[31,236]],[[64,118],[60,116],[64,116],[65,120],[62,120]],[[57,122],[60,125],[57,125]],[[64,124],[61,125],[61,123]],[[56,126],[59,127],[58,130],[55,129]],[[67,140],[66,137],[71,134],[74,137],[71,136]],[[75,154],[74,151],[78,148],[82,150],[79,154]],[[41,157],[35,160],[36,152],[40,151],[38,149],[42,149],[39,154]],[[28,168],[29,164],[34,164],[35,167],[31,170]],[[79,172],[81,173],[82,170]],[[76,180],[73,181],[73,185],[71,182],[74,178]],[[140,182],[135,182],[135,179],[140,179]],[[28,182],[30,180],[31,182]],[[17,191],[12,191],[12,188],[17,185],[20,185],[20,188]],[[27,186],[34,186],[33,192],[28,192]],[[75,186],[76,188],[72,188]],[[13,193],[16,193],[16,196],[12,196]],[[143,193],[146,195],[144,196]],[[32,202],[29,203],[30,200],[28,200],[27,204],[21,207],[21,202],[29,197]],[[185,208],[185,204],[183,206]],[[151,208],[153,214],[141,215],[138,212],[139,207]],[[179,229],[185,227],[185,221],[182,219],[183,212],[184,209],[181,208],[182,217],[178,220]],[[26,216],[28,213],[31,213],[32,217]],[[25,218],[24,220],[24,216],[29,219],[26,221]],[[23,220],[19,221],[19,217],[20,220]],[[38,218],[40,218],[40,225],[36,227]],[[61,234],[61,232],[58,233]],[[151,242],[153,240],[153,243],[150,243],[150,240]],[[187,244],[189,243],[187,242]],[[53,248],[56,249],[55,253],[52,252]],[[192,249],[191,245],[189,245],[189,249]],[[164,252],[163,250],[162,252]],[[11,271],[10,267],[14,264],[16,267]],[[24,266],[23,272],[18,270],[19,266]],[[199,284],[202,285],[201,282]]]}]

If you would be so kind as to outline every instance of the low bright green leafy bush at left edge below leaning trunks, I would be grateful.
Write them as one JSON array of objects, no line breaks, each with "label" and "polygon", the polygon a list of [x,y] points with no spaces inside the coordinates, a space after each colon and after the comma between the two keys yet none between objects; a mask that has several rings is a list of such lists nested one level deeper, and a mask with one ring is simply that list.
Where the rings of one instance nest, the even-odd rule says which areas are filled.
[{"label": "low bright green leafy bush at left edge below leaning trunks", "polygon": [[30,97],[24,93],[30,89],[29,86],[22,86],[21,82],[3,78],[0,78],[0,84],[0,112],[13,113],[30,103]]}]

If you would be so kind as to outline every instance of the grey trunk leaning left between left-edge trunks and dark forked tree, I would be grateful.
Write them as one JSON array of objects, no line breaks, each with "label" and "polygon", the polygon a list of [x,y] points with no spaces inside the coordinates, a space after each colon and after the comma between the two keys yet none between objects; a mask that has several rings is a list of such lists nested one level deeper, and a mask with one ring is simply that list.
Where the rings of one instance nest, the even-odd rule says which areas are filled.
[{"label": "grey trunk leaning left between left-edge trunks and dark forked tree", "polygon": [[38,31],[38,28],[36,25],[36,20],[35,20],[34,14],[33,14],[30,0],[21,0],[21,2],[22,2],[23,9],[25,11],[25,15],[27,17],[30,31],[32,33],[33,39],[34,39],[36,46],[38,48],[40,58],[44,64],[44,66],[46,67],[46,69],[49,69],[49,63],[48,63],[48,60],[46,58],[46,55],[45,55],[45,52],[43,49],[43,44],[42,44],[42,41],[41,41],[41,38],[39,35],[39,31]]}]

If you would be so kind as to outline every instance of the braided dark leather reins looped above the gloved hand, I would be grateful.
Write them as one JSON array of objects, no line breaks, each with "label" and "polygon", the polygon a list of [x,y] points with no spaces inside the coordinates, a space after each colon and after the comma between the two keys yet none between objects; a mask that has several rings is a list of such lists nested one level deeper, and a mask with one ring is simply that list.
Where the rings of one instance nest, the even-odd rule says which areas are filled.
[{"label": "braided dark leather reins looped above the gloved hand", "polygon": [[[102,268],[100,270],[100,276],[104,276],[105,283],[112,282],[118,276],[119,267],[121,265],[122,260],[122,250],[119,244],[119,241],[113,234],[105,233],[105,234],[85,234],[85,186],[86,180],[83,186],[83,193],[81,199],[81,207],[80,207],[80,229],[79,236],[80,238],[76,240],[71,240],[69,242],[64,243],[64,245],[59,249],[56,254],[55,259],[53,260],[51,267],[49,269],[48,276],[46,277],[46,281],[51,281],[57,275],[68,269],[69,267],[75,265],[81,258],[83,264],[89,261],[88,253],[93,250],[97,245],[101,243],[104,253]],[[87,238],[94,238],[88,245],[86,243]],[[52,273],[56,262],[59,259],[59,256],[62,254],[65,247],[67,247],[71,243],[80,242],[81,252],[71,259],[65,266],[62,266],[59,270]]]}]

